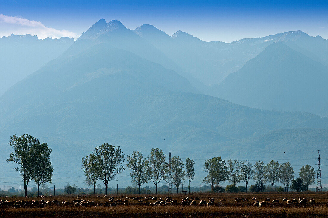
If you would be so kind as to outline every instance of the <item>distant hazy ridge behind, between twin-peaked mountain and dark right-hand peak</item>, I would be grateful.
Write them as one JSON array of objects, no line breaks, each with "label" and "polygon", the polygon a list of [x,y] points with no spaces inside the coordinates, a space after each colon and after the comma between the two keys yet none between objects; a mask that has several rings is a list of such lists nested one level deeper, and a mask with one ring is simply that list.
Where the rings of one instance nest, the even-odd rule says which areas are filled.
[{"label": "distant hazy ridge behind, between twin-peaked mountain and dark right-hand peak", "polygon": [[268,45],[279,41],[328,66],[328,40],[320,36],[311,37],[302,31],[241,39],[231,43],[204,42],[180,30],[170,37],[154,26],[145,24],[133,31],[206,85],[220,83]]}]

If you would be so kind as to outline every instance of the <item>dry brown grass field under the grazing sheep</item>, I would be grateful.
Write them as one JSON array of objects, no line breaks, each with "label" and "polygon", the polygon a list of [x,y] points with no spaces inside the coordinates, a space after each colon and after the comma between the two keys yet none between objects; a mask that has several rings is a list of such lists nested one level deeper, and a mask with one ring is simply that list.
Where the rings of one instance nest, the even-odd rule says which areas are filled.
[{"label": "dry brown grass field under the grazing sheep", "polygon": [[[31,201],[41,200],[52,201],[58,200],[58,204],[51,203],[51,206],[21,206],[15,208],[13,205],[0,206],[0,217],[328,217],[328,193],[322,194],[306,194],[306,193],[283,193],[283,194],[211,194],[211,193],[194,193],[194,194],[172,194],[173,199],[177,200],[176,205],[156,205],[145,206],[144,201],[139,203],[139,200],[132,200],[130,197],[140,196],[140,200],[148,195],[125,195],[125,197],[113,196],[113,202],[116,207],[105,207],[105,202],[109,202],[108,198],[96,198],[89,196],[80,199],[86,201],[94,201],[95,204],[101,204],[100,207],[87,206],[87,207],[74,207],[74,196],[53,196],[52,198],[4,198],[0,200],[8,201]],[[163,198],[167,194],[153,195],[153,197]],[[209,198],[215,198],[214,206],[199,205],[199,200],[196,200],[197,205],[181,206],[181,200],[184,197],[192,196],[199,197],[200,200],[204,199],[206,202]],[[123,205],[123,201],[128,197],[128,206]],[[247,198],[249,202],[235,202],[235,198]],[[253,207],[251,198],[256,197],[256,201],[264,201],[270,198],[270,202],[265,207]],[[299,199],[307,198],[315,199],[315,204],[307,202],[305,205],[291,204],[287,205],[282,202],[283,198]],[[117,199],[122,199],[122,202],[117,202]],[[225,202],[220,202],[221,199],[226,199]],[[272,203],[274,199],[278,199],[278,203]],[[69,201],[68,206],[62,206],[63,201]],[[148,200],[150,203],[155,203],[156,200]]]}]

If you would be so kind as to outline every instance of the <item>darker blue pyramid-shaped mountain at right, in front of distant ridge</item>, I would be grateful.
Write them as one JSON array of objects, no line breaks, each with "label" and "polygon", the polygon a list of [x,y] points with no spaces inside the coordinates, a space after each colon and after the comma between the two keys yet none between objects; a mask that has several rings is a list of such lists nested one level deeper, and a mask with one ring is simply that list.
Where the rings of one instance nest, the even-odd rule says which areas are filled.
[{"label": "darker blue pyramid-shaped mountain at right, in front of distant ridge", "polygon": [[279,42],[269,45],[212,91],[253,108],[327,116],[327,84],[327,66]]}]

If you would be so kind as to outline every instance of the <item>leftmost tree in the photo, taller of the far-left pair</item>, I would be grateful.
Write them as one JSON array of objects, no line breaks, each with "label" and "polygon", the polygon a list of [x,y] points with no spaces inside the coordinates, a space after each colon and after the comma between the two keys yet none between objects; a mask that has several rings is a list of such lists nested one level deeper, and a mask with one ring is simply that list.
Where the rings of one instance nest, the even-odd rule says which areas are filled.
[{"label": "leftmost tree in the photo, taller of the far-left pair", "polygon": [[10,153],[8,162],[14,162],[20,167],[14,169],[20,173],[24,182],[25,196],[27,196],[27,186],[33,179],[33,169],[37,155],[34,155],[34,148],[40,144],[39,140],[33,136],[25,134],[20,137],[13,135],[10,137],[9,146],[13,149]]}]

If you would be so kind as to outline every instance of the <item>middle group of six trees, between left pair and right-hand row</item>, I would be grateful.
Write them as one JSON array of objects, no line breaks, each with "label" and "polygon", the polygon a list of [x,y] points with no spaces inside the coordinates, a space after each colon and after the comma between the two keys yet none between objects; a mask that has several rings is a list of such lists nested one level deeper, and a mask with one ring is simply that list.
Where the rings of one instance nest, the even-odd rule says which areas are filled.
[{"label": "middle group of six trees, between left pair and right-hand row", "polygon": [[[82,169],[86,175],[86,182],[93,186],[95,192],[96,183],[102,180],[105,184],[105,194],[107,194],[108,182],[115,179],[115,176],[125,169],[123,167],[124,154],[119,146],[114,147],[107,143],[96,147],[91,154],[82,158]],[[195,178],[194,165],[191,159],[186,159],[186,170],[184,163],[179,156],[173,156],[171,159],[171,176],[169,176],[169,163],[166,162],[166,155],[162,150],[153,148],[150,155],[143,157],[139,151],[134,151],[132,155],[127,156],[126,167],[131,170],[130,176],[133,184],[139,187],[149,181],[152,181],[158,193],[157,187],[160,181],[172,179],[172,183],[178,192],[179,186],[185,179],[188,179],[190,192],[190,182]]]}]

